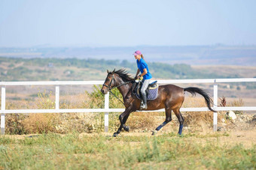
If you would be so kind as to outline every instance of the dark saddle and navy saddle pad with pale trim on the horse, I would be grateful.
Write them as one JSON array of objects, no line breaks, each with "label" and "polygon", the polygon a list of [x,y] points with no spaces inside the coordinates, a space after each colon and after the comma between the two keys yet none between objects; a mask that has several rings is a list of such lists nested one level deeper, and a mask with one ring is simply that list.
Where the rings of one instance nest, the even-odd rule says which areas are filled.
[{"label": "dark saddle and navy saddle pad with pale trim on the horse", "polygon": [[[135,87],[133,88],[133,94],[135,94],[139,100],[142,100],[142,93],[141,93],[142,82],[135,82],[134,86]],[[147,100],[155,100],[157,98],[157,94],[158,94],[157,81],[151,82],[148,85],[148,88],[146,89],[146,94],[147,94]]]}]

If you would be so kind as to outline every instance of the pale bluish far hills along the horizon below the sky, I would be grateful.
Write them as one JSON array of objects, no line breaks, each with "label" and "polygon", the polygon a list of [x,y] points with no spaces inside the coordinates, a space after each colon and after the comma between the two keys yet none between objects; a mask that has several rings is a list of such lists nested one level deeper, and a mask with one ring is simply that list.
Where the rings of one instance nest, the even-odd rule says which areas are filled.
[{"label": "pale bluish far hills along the horizon below the sky", "polygon": [[80,58],[134,62],[141,50],[149,62],[190,65],[256,66],[256,46],[131,46],[131,47],[32,47],[0,48],[0,57]]}]

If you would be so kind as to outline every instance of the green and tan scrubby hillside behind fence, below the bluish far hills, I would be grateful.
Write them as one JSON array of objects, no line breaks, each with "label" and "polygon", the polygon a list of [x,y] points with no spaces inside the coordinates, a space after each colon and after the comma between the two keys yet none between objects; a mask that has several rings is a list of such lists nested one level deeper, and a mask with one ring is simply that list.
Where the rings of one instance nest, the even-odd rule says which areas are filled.
[{"label": "green and tan scrubby hillside behind fence, below the bluish far hills", "polygon": [[[256,77],[256,67],[248,66],[190,66],[148,62],[154,80],[159,79],[218,79]],[[87,81],[104,80],[106,70],[125,68],[131,76],[136,74],[136,62],[127,60],[78,59],[78,58],[3,58],[0,57],[0,82],[11,81]],[[194,84],[193,84],[194,85]],[[186,85],[188,86],[188,85]],[[212,89],[210,84],[197,87]],[[74,88],[74,87],[73,87]],[[67,88],[62,90],[69,91]],[[75,88],[81,91],[85,88]],[[92,88],[86,88],[92,91]],[[225,97],[255,98],[254,82],[233,82],[218,85],[218,93]],[[36,90],[36,91],[35,91]],[[9,88],[9,91],[16,91]],[[212,90],[210,90],[211,92]],[[20,91],[19,91],[20,92]],[[25,90],[23,90],[26,93]],[[31,91],[29,91],[31,92]],[[35,95],[38,88],[34,89]]]}]

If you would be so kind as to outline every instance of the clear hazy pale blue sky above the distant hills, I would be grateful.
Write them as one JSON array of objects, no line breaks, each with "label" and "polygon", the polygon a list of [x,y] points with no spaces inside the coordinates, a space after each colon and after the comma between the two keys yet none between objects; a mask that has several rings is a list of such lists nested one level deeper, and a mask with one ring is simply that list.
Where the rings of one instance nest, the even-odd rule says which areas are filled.
[{"label": "clear hazy pale blue sky above the distant hills", "polygon": [[256,45],[255,0],[0,0],[0,46]]}]

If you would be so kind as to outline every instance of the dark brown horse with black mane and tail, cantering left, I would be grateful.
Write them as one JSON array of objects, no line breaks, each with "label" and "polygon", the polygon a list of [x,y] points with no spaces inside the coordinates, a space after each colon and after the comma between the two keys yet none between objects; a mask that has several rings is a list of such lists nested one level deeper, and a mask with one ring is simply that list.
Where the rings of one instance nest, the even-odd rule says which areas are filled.
[{"label": "dark brown horse with black mane and tail, cantering left", "polygon": [[[121,130],[129,131],[129,127],[125,125],[127,118],[129,117],[131,112],[136,112],[136,110],[140,109],[141,101],[133,94],[133,83],[135,79],[133,79],[126,70],[117,70],[108,72],[108,76],[105,79],[105,82],[102,86],[102,94],[107,94],[108,91],[111,91],[112,88],[117,88],[120,91],[120,94],[123,96],[123,104],[125,106],[125,111],[120,114],[120,127],[113,136],[117,136]],[[191,94],[201,94],[205,100],[206,105],[212,112],[215,112],[211,108],[212,99],[200,88],[180,88],[176,85],[160,85],[158,88],[157,98],[155,100],[148,100],[148,109],[146,110],[157,110],[157,109],[165,109],[166,111],[166,120],[163,124],[160,124],[159,127],[152,133],[154,135],[160,130],[163,126],[172,121],[172,111],[178,118],[179,121],[179,130],[178,134],[181,135],[184,118],[181,115],[180,108],[182,103],[184,102],[184,91],[188,91]]]}]

